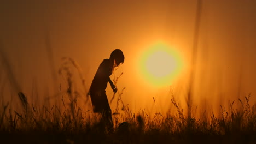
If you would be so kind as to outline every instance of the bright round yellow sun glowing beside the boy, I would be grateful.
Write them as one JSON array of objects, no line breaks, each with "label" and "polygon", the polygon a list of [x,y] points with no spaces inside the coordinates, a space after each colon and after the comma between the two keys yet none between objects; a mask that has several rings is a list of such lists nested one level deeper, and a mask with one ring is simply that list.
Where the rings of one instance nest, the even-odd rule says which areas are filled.
[{"label": "bright round yellow sun glowing beside the boy", "polygon": [[154,86],[171,85],[181,73],[183,61],[180,54],[164,43],[149,47],[139,59],[139,71]]}]

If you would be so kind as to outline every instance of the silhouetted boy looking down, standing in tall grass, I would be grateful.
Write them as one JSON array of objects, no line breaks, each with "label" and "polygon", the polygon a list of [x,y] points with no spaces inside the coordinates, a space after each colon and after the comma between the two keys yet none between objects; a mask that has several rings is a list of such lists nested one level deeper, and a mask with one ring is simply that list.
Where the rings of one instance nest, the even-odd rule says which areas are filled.
[{"label": "silhouetted boy looking down, standing in tall grass", "polygon": [[104,59],[98,67],[89,91],[93,111],[102,114],[100,123],[107,126],[109,130],[113,130],[113,121],[105,89],[109,82],[113,92],[117,92],[117,88],[110,80],[109,76],[112,74],[113,69],[118,67],[120,63],[124,63],[123,52],[119,49],[115,49],[109,59]]}]

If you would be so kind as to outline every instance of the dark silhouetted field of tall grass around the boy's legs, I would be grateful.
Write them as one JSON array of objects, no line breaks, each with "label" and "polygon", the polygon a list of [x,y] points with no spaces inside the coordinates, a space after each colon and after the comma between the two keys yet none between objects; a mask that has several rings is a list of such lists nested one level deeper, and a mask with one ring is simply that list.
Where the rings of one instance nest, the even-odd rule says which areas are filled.
[{"label": "dark silhouetted field of tall grass around the boy's legs", "polygon": [[[72,59],[68,61],[78,70],[83,83],[78,65]],[[220,105],[220,117],[201,113],[198,118],[191,110],[186,115],[174,95],[174,113],[155,113],[153,117],[145,111],[133,113],[123,104],[122,92],[118,92],[117,107],[112,110],[114,131],[107,131],[99,123],[99,116],[77,105],[78,93],[70,65],[62,66],[59,72],[67,81],[64,94],[68,103],[62,97],[53,105],[39,106],[28,103],[26,95],[19,92],[19,109],[10,109],[9,103],[0,107],[1,143],[256,143],[256,115],[254,106],[249,104],[251,94],[237,100],[242,107],[239,110],[233,108],[233,101],[227,109]],[[115,84],[120,76],[115,77]]]}]

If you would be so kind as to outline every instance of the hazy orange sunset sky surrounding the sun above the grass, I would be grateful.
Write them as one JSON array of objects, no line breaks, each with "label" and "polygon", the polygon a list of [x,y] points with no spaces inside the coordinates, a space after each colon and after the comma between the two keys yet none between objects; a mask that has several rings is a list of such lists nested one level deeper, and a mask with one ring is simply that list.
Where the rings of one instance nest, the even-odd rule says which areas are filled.
[{"label": "hazy orange sunset sky surrounding the sun above the grass", "polygon": [[[250,92],[251,103],[255,103],[255,7],[255,1],[203,1],[195,105],[216,109],[219,104],[243,98]],[[126,88],[125,104],[134,111],[165,113],[171,104],[172,86],[176,100],[185,107],[196,1],[7,1],[2,2],[0,11],[1,51],[29,100],[36,99],[33,87],[38,87],[39,99],[59,92],[59,83],[65,87],[62,77],[57,75],[62,57],[75,59],[89,87],[101,61],[114,49],[121,49],[125,62],[118,71],[124,72],[118,86]],[[53,62],[45,45],[47,33]],[[187,67],[170,85],[152,88],[141,80],[136,64],[140,53],[159,40],[180,52]],[[8,83],[8,78],[4,78],[5,67],[1,67],[0,88]],[[107,95],[112,97],[110,90]],[[3,91],[8,94],[3,94],[1,101],[15,97]],[[83,100],[80,98],[81,104]]]}]

